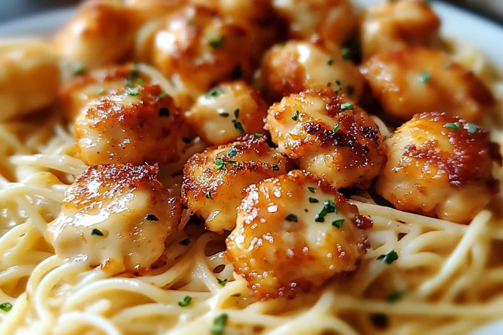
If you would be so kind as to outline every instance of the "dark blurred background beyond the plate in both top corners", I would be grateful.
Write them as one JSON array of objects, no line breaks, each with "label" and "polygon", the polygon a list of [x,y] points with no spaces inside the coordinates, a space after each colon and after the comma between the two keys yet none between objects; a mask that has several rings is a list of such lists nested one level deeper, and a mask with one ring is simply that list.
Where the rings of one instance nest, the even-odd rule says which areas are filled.
[{"label": "dark blurred background beyond the plate in both top corners", "polygon": [[[503,0],[441,1],[467,8],[503,25]],[[79,2],[80,0],[0,0],[0,23],[50,9],[76,5]]]}]

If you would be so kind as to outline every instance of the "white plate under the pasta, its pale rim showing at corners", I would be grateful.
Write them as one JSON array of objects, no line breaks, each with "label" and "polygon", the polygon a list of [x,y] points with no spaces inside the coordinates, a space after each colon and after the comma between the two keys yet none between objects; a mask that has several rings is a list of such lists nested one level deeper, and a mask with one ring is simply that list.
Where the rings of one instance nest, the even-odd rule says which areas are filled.
[{"label": "white plate under the pasta, its pale rim showing at corners", "polygon": [[[381,3],[383,0],[353,0],[360,5]],[[503,28],[453,6],[433,3],[442,19],[442,34],[472,45],[482,51],[503,72]],[[51,11],[0,25],[0,37],[53,35],[73,13],[72,8]],[[503,334],[503,320],[488,324],[471,335]]]}]

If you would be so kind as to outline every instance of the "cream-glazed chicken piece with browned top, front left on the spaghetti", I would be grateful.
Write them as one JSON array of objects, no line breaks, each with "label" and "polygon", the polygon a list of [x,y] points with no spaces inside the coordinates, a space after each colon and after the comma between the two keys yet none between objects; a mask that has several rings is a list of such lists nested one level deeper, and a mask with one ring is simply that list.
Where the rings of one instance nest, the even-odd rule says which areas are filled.
[{"label": "cream-glazed chicken piece with browned top, front left on the spaghetti", "polygon": [[65,192],[47,240],[56,254],[113,273],[148,269],[177,231],[179,197],[157,181],[157,166],[95,165]]}]

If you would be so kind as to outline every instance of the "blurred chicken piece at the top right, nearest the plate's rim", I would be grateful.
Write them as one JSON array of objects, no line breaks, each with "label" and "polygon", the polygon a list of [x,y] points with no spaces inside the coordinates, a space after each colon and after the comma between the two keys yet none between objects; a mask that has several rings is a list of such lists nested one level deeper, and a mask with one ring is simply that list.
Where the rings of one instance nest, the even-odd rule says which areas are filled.
[{"label": "blurred chicken piece at the top right, nearest the plate's rim", "polygon": [[423,0],[383,2],[369,6],[362,16],[363,58],[406,46],[434,46],[440,18]]}]

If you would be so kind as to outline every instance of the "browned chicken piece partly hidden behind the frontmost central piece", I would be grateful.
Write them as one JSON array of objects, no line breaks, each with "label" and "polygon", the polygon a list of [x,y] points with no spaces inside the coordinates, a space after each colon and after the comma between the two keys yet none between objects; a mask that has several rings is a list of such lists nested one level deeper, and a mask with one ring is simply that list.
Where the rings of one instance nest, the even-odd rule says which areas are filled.
[{"label": "browned chicken piece partly hidden behind the frontmost central piece", "polygon": [[189,158],[184,166],[182,200],[206,221],[208,230],[232,230],[243,189],[289,168],[290,162],[267,145],[265,136],[247,135]]}]

